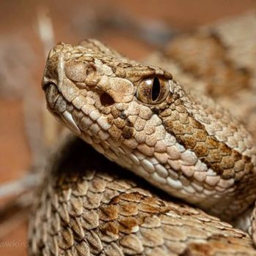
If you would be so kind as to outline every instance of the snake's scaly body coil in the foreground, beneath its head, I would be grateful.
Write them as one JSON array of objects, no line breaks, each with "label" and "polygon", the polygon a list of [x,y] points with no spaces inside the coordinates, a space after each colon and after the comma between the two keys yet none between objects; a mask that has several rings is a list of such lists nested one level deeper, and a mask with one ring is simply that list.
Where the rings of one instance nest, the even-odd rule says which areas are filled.
[{"label": "snake's scaly body coil in the foreground, beneath its head", "polygon": [[68,137],[35,200],[29,255],[256,255],[248,234],[161,194]]}]

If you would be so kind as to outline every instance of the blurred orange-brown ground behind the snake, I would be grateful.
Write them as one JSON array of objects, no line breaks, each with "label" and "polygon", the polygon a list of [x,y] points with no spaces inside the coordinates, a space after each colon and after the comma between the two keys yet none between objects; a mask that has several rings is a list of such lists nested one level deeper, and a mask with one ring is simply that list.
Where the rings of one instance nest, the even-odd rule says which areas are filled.
[{"label": "blurred orange-brown ground behind the snake", "polygon": [[[37,116],[44,107],[40,80],[45,54],[53,43],[96,37],[131,59],[141,59],[175,31],[255,8],[254,0],[2,0],[1,184],[21,178],[31,165],[39,165],[44,143],[44,127]],[[1,206],[10,198],[13,196],[0,192]],[[0,255],[26,255],[26,222],[17,216],[0,227]]]}]

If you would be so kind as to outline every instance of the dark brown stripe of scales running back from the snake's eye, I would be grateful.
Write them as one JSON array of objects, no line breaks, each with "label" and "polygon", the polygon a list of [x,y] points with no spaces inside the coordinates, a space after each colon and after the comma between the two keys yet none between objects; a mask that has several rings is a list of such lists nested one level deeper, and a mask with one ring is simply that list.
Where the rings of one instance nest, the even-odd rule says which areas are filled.
[{"label": "dark brown stripe of scales running back from the snake's eye", "polygon": [[215,136],[208,135],[206,127],[187,111],[181,99],[177,101],[170,105],[171,111],[164,110],[160,114],[167,132],[175,136],[178,143],[186,149],[194,151],[208,168],[222,178],[234,178],[237,171],[237,169],[234,170],[236,162],[241,160],[247,163],[250,162],[250,158],[246,157],[247,160],[245,160],[245,157],[236,149],[228,147]]}]

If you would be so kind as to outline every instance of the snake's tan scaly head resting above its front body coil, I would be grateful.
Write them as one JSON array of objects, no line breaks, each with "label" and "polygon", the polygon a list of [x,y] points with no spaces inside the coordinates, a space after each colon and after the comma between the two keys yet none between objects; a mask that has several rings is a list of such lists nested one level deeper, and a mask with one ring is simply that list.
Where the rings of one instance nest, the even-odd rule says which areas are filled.
[{"label": "snake's tan scaly head resting above its front body coil", "polygon": [[49,110],[67,127],[170,195],[222,219],[254,203],[252,136],[164,69],[129,61],[97,40],[59,43],[42,86]]}]

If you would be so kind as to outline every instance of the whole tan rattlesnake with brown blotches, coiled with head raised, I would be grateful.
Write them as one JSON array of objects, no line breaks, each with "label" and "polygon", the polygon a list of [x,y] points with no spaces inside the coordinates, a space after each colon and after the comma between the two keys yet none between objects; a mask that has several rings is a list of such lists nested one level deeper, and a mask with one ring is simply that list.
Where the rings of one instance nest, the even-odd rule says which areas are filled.
[{"label": "whole tan rattlesnake with brown blotches, coiled with head raised", "polygon": [[[169,54],[187,81],[217,84],[202,88],[221,99],[227,89],[213,81],[215,69],[234,78],[233,94],[251,83],[252,70],[230,64],[227,56],[216,58],[214,68],[195,65],[198,55],[183,63],[177,49],[182,42],[187,53],[198,42],[218,45],[214,28],[178,37],[161,58]],[[211,53],[211,47],[204,50]],[[87,39],[50,51],[42,86],[50,112],[99,153],[208,214],[236,221],[255,203],[254,138],[225,108],[176,80],[159,66],[130,61]],[[59,151],[35,206],[31,255],[256,255],[243,231],[161,195],[78,139]]]}]

